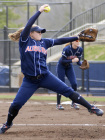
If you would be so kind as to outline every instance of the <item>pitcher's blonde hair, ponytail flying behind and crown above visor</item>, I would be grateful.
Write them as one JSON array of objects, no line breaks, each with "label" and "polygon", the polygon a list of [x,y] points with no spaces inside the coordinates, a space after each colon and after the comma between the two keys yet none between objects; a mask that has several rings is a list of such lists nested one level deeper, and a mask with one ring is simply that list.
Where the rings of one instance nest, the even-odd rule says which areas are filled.
[{"label": "pitcher's blonde hair, ponytail flying behind and crown above visor", "polygon": [[[37,25],[35,25],[35,24],[32,25],[32,27],[36,27],[36,26],[37,26]],[[15,41],[15,42],[19,41],[19,39],[20,39],[20,34],[21,34],[21,32],[23,31],[23,29],[24,29],[24,27],[20,28],[19,30],[17,30],[17,31],[14,32],[14,33],[9,33],[9,34],[8,34],[8,37],[10,38],[10,40]]]}]

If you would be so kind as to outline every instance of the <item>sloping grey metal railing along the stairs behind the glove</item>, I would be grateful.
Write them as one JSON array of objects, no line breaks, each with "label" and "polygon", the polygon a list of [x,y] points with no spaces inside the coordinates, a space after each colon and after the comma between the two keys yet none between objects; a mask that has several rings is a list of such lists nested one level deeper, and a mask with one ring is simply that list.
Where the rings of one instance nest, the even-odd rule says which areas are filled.
[{"label": "sloping grey metal railing along the stairs behind the glove", "polygon": [[52,38],[57,38],[58,36],[68,31],[69,27],[71,30],[76,29],[87,23],[97,23],[105,19],[105,2],[99,4],[81,14],[76,15],[68,23],[66,23],[57,33],[53,34]]}]

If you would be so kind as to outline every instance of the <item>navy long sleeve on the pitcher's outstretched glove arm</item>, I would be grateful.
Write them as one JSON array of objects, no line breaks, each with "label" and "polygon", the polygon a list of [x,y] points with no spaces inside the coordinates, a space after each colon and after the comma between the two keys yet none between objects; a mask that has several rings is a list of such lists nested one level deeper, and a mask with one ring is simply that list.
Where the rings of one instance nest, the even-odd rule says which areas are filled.
[{"label": "navy long sleeve on the pitcher's outstretched glove arm", "polygon": [[78,40],[78,37],[64,37],[64,38],[58,38],[54,39],[54,45],[62,45],[68,42],[73,42],[75,40]]}]

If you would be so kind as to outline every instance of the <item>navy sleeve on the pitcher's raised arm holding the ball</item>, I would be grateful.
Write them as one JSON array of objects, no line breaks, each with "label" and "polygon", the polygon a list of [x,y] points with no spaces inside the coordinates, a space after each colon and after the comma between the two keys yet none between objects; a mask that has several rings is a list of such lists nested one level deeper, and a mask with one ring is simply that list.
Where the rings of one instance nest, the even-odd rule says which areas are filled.
[{"label": "navy sleeve on the pitcher's raised arm holding the ball", "polygon": [[28,36],[30,34],[30,29],[32,27],[32,25],[34,24],[34,22],[37,20],[37,18],[39,17],[39,15],[41,14],[40,11],[37,11],[35,15],[33,15],[27,22],[25,28],[23,29],[20,39],[21,41],[25,42],[28,39]]}]

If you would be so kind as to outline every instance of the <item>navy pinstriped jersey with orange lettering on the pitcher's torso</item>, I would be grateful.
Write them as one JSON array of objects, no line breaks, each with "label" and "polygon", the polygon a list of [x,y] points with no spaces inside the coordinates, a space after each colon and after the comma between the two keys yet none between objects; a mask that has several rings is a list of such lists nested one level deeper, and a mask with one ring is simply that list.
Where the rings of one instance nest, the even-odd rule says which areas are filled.
[{"label": "navy pinstriped jersey with orange lettering on the pitcher's torso", "polygon": [[22,72],[31,76],[45,74],[48,70],[46,64],[47,49],[53,46],[53,39],[35,41],[28,37],[25,42],[21,40],[19,44]]}]

